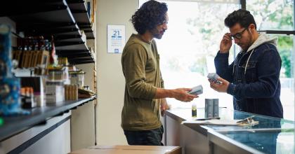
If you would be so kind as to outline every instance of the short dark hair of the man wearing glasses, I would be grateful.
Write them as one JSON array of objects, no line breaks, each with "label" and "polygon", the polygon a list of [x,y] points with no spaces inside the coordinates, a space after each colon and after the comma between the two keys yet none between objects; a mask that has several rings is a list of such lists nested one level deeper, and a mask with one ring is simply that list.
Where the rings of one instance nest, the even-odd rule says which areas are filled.
[{"label": "short dark hair of the man wearing glasses", "polygon": [[226,27],[233,27],[235,24],[239,23],[241,27],[247,28],[250,24],[255,25],[256,29],[256,22],[254,20],[253,15],[248,10],[235,10],[232,13],[228,14],[228,17],[225,18],[224,24]]}]

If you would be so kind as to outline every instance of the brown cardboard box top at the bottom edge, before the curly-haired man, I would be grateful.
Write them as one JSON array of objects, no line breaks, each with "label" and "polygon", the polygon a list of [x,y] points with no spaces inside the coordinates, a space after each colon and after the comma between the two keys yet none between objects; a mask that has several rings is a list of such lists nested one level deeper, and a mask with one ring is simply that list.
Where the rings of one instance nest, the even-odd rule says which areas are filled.
[{"label": "brown cardboard box top at the bottom edge, before the curly-haired man", "polygon": [[92,146],[70,154],[181,154],[179,146]]}]

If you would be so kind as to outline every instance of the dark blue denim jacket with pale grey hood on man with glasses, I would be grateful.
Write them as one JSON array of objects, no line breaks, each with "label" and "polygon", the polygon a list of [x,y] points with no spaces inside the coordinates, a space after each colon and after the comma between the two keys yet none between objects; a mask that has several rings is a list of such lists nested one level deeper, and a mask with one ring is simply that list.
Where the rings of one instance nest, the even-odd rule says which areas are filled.
[{"label": "dark blue denim jacket with pale grey hood on man with glasses", "polygon": [[241,51],[232,64],[228,53],[218,52],[216,73],[228,80],[228,94],[234,97],[234,109],[283,118],[280,102],[280,69],[277,38],[259,34],[247,51]]}]

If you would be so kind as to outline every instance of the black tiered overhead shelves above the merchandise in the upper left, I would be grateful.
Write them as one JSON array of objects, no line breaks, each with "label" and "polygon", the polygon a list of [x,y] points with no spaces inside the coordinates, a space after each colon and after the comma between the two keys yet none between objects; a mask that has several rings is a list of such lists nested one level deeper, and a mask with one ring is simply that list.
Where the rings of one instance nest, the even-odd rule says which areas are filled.
[{"label": "black tiered overhead shelves above the merchandise in the upper left", "polygon": [[[13,11],[11,8],[14,8]],[[0,9],[0,16],[7,16],[15,21],[18,31],[24,31],[29,36],[53,36],[57,54],[60,57],[68,56],[71,64],[95,62],[80,31],[84,30],[87,39],[94,39],[84,1],[9,1],[8,5],[0,6]],[[73,56],[75,54],[77,57]]]}]

